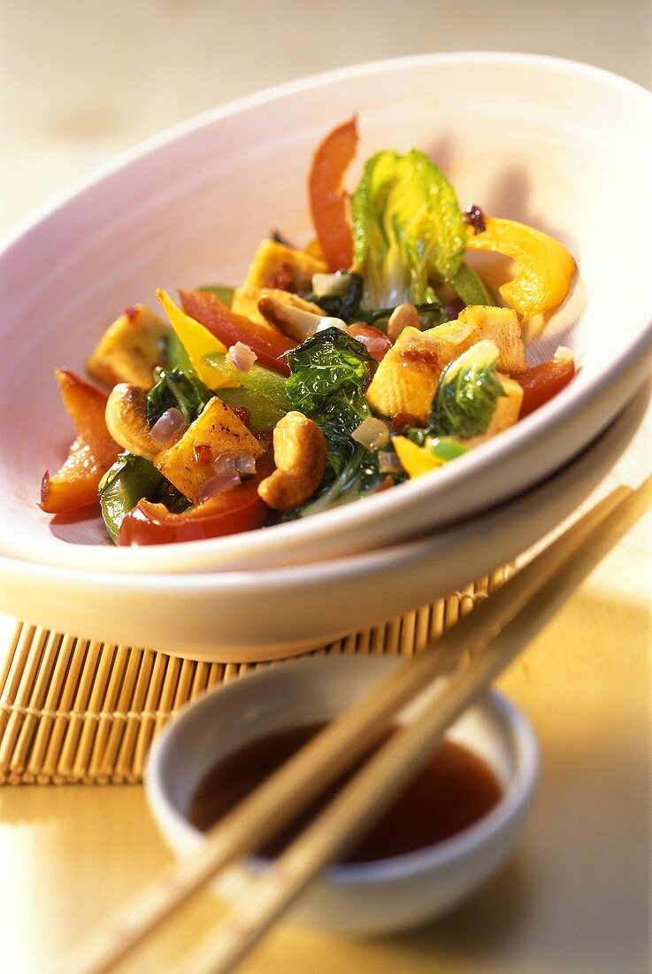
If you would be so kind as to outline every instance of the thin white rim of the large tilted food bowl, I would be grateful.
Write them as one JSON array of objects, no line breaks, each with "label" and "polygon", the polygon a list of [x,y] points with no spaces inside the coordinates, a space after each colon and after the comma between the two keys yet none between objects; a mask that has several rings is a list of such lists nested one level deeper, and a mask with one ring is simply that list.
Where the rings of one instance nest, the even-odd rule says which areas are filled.
[{"label": "thin white rim of the large tilted food bowl", "polygon": [[[131,149],[127,149],[113,160],[95,169],[91,174],[80,179],[73,186],[54,197],[54,200],[37,210],[32,217],[26,218],[18,224],[16,231],[9,239],[0,242],[0,261],[9,250],[22,241],[28,234],[36,230],[45,221],[54,218],[64,206],[72,204],[79,197],[84,196],[104,180],[108,180],[132,164],[139,162],[160,149],[177,142],[194,132],[211,127],[241,111],[257,108],[275,99],[292,94],[330,85],[340,81],[347,81],[362,76],[373,76],[392,71],[402,71],[415,67],[430,65],[464,64],[474,62],[486,65],[512,65],[525,70],[535,70],[544,73],[555,73],[565,77],[584,77],[602,86],[616,88],[627,97],[633,97],[650,110],[652,118],[652,93],[635,82],[616,75],[603,68],[584,64],[560,57],[518,54],[509,52],[457,52],[435,55],[414,55],[355,64],[332,71],[300,78],[282,85],[274,86],[262,92],[247,94],[236,98],[227,104],[209,109],[199,115],[172,126],[148,139],[141,141]],[[510,430],[495,437],[484,448],[472,451],[459,458],[456,464],[448,465],[437,471],[436,483],[441,485],[437,490],[454,491],[460,482],[467,479],[475,480],[484,476],[489,469],[502,467],[505,461],[519,454],[527,446],[533,448],[542,437],[553,435],[567,422],[571,413],[585,409],[591,401],[599,398],[614,384],[623,371],[633,367],[634,362],[649,353],[652,347],[652,295],[650,296],[650,310],[645,316],[647,323],[641,325],[638,334],[626,349],[625,354],[615,356],[597,376],[587,385],[571,383],[558,396],[545,403],[540,409],[525,418],[525,421]],[[641,317],[642,320],[642,317]],[[552,470],[550,471],[552,472]],[[268,528],[261,533],[260,529],[244,532],[222,538],[204,539],[182,544],[161,544],[154,548],[144,547],[115,547],[109,543],[68,544],[49,536],[44,539],[25,539],[15,532],[6,534],[9,549],[3,553],[21,560],[30,560],[61,567],[68,558],[75,567],[84,572],[109,571],[121,572],[128,575],[141,572],[158,574],[161,570],[157,565],[165,563],[165,572],[193,571],[194,569],[211,569],[213,571],[229,571],[230,563],[256,557],[270,557],[274,551],[301,551],[307,543],[323,543],[334,531],[338,537],[344,538],[347,530],[355,522],[358,530],[370,530],[380,520],[391,519],[401,511],[420,506],[431,499],[434,478],[419,477],[400,485],[402,490],[383,491],[380,495],[367,499],[364,506],[347,505],[335,510],[327,510],[315,514],[307,519],[288,522]],[[504,500],[514,496],[510,494]],[[489,506],[488,502],[488,506]],[[362,508],[362,509],[361,509]],[[471,515],[481,513],[474,510]],[[456,523],[460,517],[445,520],[442,526]],[[11,526],[10,526],[11,527]],[[437,530],[437,528],[436,528]],[[279,531],[281,532],[279,535]],[[16,534],[12,541],[12,536]],[[12,554],[20,551],[20,555]],[[230,552],[232,552],[230,554]],[[291,555],[292,561],[296,558]]]}]

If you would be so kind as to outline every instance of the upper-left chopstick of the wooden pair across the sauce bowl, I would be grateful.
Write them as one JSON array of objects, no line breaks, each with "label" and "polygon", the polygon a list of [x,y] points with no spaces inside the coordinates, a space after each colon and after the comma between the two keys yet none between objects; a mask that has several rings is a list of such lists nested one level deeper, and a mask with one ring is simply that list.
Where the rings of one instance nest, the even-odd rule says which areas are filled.
[{"label": "upper-left chopstick of the wooden pair across the sauce bowl", "polygon": [[[392,671],[207,833],[206,842],[198,852],[166,870],[159,880],[100,928],[68,959],[62,970],[66,974],[100,974],[109,970],[224,866],[254,845],[260,846],[272,838],[290,817],[379,739],[391,717],[410,699],[435,677],[449,671],[468,650],[489,643],[544,584],[555,578],[563,563],[591,538],[599,525],[608,519],[612,526],[620,522],[615,512],[631,495],[629,488],[618,488],[473,613],[461,619],[437,642],[434,650]],[[269,911],[265,913],[266,917],[269,915]],[[259,931],[256,936],[264,929],[262,922],[259,918],[254,924]],[[240,942],[240,947],[243,943]],[[194,974],[197,974],[195,970]]]}]

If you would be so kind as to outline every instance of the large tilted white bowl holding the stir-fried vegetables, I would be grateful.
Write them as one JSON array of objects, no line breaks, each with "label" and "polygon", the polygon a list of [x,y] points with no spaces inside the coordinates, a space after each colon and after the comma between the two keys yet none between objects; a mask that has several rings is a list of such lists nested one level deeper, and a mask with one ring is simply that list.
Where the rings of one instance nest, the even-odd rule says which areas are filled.
[{"label": "large tilted white bowl holding the stir-fried vegetables", "polygon": [[[70,438],[53,370],[82,370],[106,324],[154,289],[237,282],[272,227],[308,241],[310,155],[359,113],[350,173],[380,147],[417,145],[463,204],[525,220],[577,255],[573,293],[529,346],[561,342],[570,387],[482,449],[364,504],[211,541],[115,549],[98,518],[36,506]],[[0,291],[0,550],[85,571],[269,567],[340,557],[515,497],[576,456],[640,385],[652,343],[652,95],[597,68],[524,55],[418,56],[347,68],[233,105],[123,157],[10,241]]]}]

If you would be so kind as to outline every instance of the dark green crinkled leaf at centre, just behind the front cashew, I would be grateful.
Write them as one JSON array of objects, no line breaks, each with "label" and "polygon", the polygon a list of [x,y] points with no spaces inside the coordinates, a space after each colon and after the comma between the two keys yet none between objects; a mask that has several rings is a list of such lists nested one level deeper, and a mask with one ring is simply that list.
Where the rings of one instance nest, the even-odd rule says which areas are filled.
[{"label": "dark green crinkled leaf at centre, just behind the front cashew", "polygon": [[326,328],[285,353],[292,405],[326,437],[328,463],[338,476],[356,448],[350,434],[371,415],[364,397],[376,363],[365,346],[339,328]]}]

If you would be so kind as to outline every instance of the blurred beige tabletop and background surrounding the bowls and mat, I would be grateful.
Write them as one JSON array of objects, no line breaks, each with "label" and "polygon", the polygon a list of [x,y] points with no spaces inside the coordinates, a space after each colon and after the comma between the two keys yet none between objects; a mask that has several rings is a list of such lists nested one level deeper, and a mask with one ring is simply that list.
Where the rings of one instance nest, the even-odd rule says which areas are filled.
[{"label": "blurred beige tabletop and background surrounding the bowls and mat", "polygon": [[[652,87],[651,21],[637,0],[4,0],[0,231],[169,124],[360,60],[524,50],[591,61]],[[648,418],[611,484],[650,472],[651,437]],[[648,516],[501,682],[532,719],[543,755],[539,794],[507,868],[424,930],[374,943],[280,930],[247,971],[650,970],[651,551]],[[0,618],[0,647],[12,628]],[[140,788],[0,791],[0,968],[47,970],[167,859]],[[216,910],[205,896],[133,969],[168,967]]]}]

